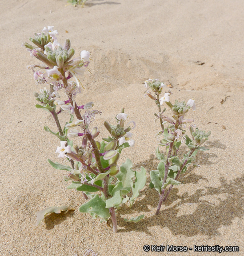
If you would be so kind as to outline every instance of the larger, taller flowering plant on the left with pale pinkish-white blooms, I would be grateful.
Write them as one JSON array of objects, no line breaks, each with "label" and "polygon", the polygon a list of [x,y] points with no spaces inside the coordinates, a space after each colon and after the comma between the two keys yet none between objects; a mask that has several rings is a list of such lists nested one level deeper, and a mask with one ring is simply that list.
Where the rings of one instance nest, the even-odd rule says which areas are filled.
[{"label": "larger, taller flowering plant on the left with pale pinkish-white blooms", "polygon": [[[132,147],[135,141],[132,139],[131,129],[135,128],[135,122],[125,124],[128,115],[122,111],[116,115],[116,124],[104,122],[110,136],[103,138],[102,142],[95,140],[100,132],[97,127],[91,127],[98,110],[90,110],[93,102],[84,105],[76,103],[76,95],[81,92],[80,75],[88,69],[90,53],[80,52],[80,56],[72,59],[75,54],[71,48],[70,40],[66,39],[64,46],[58,41],[57,30],[52,26],[44,28],[41,33],[34,34],[30,41],[35,44],[24,43],[32,57],[40,60],[43,64],[28,66],[32,69],[36,84],[45,84],[49,88],[41,88],[35,92],[36,108],[42,108],[52,114],[58,132],[51,131],[48,126],[44,129],[55,135],[60,140],[57,147],[58,157],[66,157],[71,166],[59,164],[48,160],[52,167],[67,171],[66,181],[72,181],[68,189],[75,188],[81,191],[88,202],[82,204],[80,212],[88,212],[93,218],[101,218],[102,221],[111,218],[113,231],[117,232],[116,211],[120,204],[129,203],[131,207],[140,189],[146,183],[146,170],[132,170],[132,162],[127,159],[121,166],[118,164],[120,154],[124,148]],[[63,93],[65,100],[60,99]],[[83,111],[83,114],[80,113]],[[59,115],[63,112],[70,114],[70,120],[61,127]],[[74,115],[76,120],[74,120]],[[132,127],[131,127],[132,126]],[[79,137],[80,146],[73,144],[73,138]],[[131,196],[128,194],[132,191]],[[50,207],[38,213],[37,224],[45,214],[67,210],[67,207]],[[137,222],[144,215],[131,220]]]}]

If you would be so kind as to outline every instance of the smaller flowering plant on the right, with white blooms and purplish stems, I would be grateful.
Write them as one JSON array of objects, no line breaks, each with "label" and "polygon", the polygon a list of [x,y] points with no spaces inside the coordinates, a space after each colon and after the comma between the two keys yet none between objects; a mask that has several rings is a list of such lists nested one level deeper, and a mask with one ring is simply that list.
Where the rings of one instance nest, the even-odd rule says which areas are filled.
[{"label": "smaller flowering plant on the right, with white blooms and purplish stems", "polygon": [[[175,100],[175,103],[170,102],[169,96],[171,92],[166,92],[163,97],[160,98],[160,94],[165,88],[164,83],[160,82],[158,79],[149,79],[144,82],[147,88],[145,96],[150,97],[155,101],[158,107],[158,114],[154,114],[160,120],[161,130],[157,133],[158,136],[162,135],[163,139],[160,140],[159,146],[166,148],[166,154],[161,153],[159,147],[156,148],[157,159],[160,163],[157,166],[157,170],[152,170],[150,172],[151,182],[149,186],[155,188],[159,192],[160,199],[156,210],[156,215],[159,214],[161,205],[163,201],[167,200],[168,194],[174,185],[179,185],[178,181],[181,173],[184,173],[188,168],[189,164],[192,163],[197,151],[205,151],[207,148],[202,147],[202,144],[208,140],[208,136],[211,132],[201,131],[198,128],[194,130],[194,125],[192,124],[194,120],[185,119],[185,115],[190,108],[196,109],[195,100],[188,100],[179,102]],[[154,95],[152,95],[152,92]],[[163,104],[167,106],[172,111],[172,116],[166,116],[161,106]],[[164,125],[167,125],[165,127]],[[190,137],[186,133],[186,128],[188,127],[190,132]],[[179,149],[182,144],[186,144],[188,147],[188,153],[184,154],[183,159],[180,160]],[[168,192],[165,193],[166,188]]]}]

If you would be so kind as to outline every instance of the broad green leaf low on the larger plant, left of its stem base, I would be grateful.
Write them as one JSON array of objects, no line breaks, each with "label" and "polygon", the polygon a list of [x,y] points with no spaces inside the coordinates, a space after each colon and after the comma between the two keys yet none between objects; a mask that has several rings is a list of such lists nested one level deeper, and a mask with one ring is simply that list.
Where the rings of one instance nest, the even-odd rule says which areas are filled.
[{"label": "broad green leaf low on the larger plant, left of its stem base", "polygon": [[102,200],[98,194],[96,194],[91,200],[87,203],[84,203],[80,206],[80,212],[88,212],[92,215],[93,219],[96,217],[100,218],[110,218],[111,215],[109,213],[108,208],[105,207],[106,203]]}]

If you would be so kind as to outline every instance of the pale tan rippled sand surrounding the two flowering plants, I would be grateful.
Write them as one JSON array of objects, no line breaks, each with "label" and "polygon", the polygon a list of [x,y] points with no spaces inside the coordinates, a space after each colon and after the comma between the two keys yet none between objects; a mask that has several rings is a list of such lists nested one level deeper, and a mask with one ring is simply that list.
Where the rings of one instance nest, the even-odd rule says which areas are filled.
[{"label": "pale tan rippled sand surrounding the two flowering plants", "polygon": [[[240,247],[244,255],[244,1],[241,0],[88,0],[85,8],[64,0],[0,1],[0,255],[82,256],[92,248],[101,256],[219,255],[218,252],[144,252],[144,244]],[[102,124],[126,108],[137,127],[136,145],[123,151],[135,169],[155,169],[156,106],[144,99],[143,82],[172,84],[172,99],[196,100],[190,112],[199,128],[211,130],[192,168],[154,216],[158,194],[146,187],[131,210],[122,207],[119,232],[78,212],[83,196],[67,190],[58,161],[59,141],[44,131],[52,117],[35,108],[32,72],[38,63],[21,48],[33,32],[53,25],[59,41],[69,38],[76,56],[91,52],[92,75],[82,77],[78,103],[95,102]],[[68,33],[65,32],[68,31]],[[200,62],[197,62],[200,61]],[[199,63],[204,63],[198,65]],[[229,96],[224,104],[220,101]],[[62,117],[62,122],[65,120]],[[209,123],[210,122],[210,123]],[[224,129],[224,127],[226,129]],[[149,182],[149,179],[148,179]],[[51,215],[35,227],[35,212],[52,205],[76,211]],[[123,218],[145,214],[138,224]]]}]

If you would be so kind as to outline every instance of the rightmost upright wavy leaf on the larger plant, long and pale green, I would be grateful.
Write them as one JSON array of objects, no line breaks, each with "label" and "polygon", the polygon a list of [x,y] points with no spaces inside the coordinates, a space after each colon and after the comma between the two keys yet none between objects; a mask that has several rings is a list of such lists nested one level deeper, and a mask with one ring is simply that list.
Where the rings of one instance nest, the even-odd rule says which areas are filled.
[{"label": "rightmost upright wavy leaf on the larger plant, long and pale green", "polygon": [[140,167],[141,171],[135,172],[136,180],[134,181],[132,187],[132,197],[130,198],[130,207],[134,203],[137,196],[139,196],[140,189],[144,188],[147,177],[146,177],[146,169],[144,167]]}]

